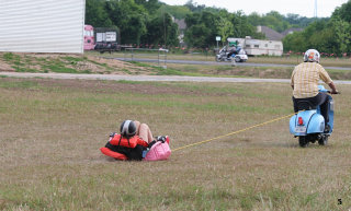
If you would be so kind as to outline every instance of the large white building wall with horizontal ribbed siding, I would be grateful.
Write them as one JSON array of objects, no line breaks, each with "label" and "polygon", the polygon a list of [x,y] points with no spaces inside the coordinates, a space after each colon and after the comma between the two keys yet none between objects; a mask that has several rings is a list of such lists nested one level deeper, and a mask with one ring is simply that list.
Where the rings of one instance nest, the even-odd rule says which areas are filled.
[{"label": "large white building wall with horizontal ribbed siding", "polygon": [[0,51],[83,52],[86,0],[0,0]]}]

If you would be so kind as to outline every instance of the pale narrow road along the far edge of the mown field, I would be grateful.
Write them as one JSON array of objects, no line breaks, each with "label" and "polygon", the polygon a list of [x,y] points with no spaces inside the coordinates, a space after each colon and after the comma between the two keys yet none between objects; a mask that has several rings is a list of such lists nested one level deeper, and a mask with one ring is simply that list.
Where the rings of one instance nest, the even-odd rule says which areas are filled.
[{"label": "pale narrow road along the far edge of the mown field", "polygon": [[[212,77],[178,77],[178,75],[118,75],[118,74],[71,74],[71,73],[23,73],[0,72],[0,77],[14,78],[48,78],[48,79],[81,79],[112,81],[181,81],[181,82],[236,82],[236,83],[288,83],[288,79],[248,79],[248,78],[212,78]],[[338,84],[351,84],[351,81],[335,81]]]}]

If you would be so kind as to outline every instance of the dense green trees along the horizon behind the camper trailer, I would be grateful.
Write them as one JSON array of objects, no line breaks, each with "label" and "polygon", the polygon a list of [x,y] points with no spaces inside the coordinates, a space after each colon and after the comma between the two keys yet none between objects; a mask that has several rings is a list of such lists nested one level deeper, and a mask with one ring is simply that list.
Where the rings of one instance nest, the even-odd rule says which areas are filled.
[{"label": "dense green trees along the horizon behind the camper trailer", "polygon": [[258,25],[278,32],[303,27],[303,32],[284,38],[285,51],[318,48],[326,52],[344,52],[350,51],[350,4],[351,0],[336,9],[330,19],[308,19],[276,11],[246,15],[242,11],[228,12],[192,0],[184,5],[168,5],[158,0],[87,0],[86,24],[117,27],[122,44],[176,47],[180,32],[173,19],[184,19],[184,42],[188,47],[195,48],[216,46],[216,36],[220,36],[223,43],[227,37],[264,39],[256,30]]}]

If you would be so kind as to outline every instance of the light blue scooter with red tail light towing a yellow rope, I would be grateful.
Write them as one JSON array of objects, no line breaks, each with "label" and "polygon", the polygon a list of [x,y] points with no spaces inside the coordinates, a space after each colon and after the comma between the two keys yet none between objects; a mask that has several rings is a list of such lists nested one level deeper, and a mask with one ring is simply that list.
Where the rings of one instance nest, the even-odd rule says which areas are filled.
[{"label": "light blue scooter with red tail light towing a yellow rope", "polygon": [[[319,92],[330,93],[325,86],[318,85]],[[313,106],[307,101],[297,104],[298,113],[290,119],[290,132],[294,138],[298,137],[298,144],[305,148],[309,142],[318,141],[319,145],[326,145],[328,138],[333,129],[333,99],[330,94],[329,97],[329,122],[325,130],[325,118],[320,115],[319,106]]]}]

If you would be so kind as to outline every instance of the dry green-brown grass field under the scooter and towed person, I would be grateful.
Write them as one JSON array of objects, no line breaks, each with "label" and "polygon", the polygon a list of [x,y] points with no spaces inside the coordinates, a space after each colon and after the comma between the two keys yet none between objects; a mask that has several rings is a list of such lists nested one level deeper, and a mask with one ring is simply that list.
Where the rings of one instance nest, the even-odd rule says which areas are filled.
[{"label": "dry green-brown grass field under the scooter and towed person", "polygon": [[99,148],[124,119],[177,149],[293,113],[291,87],[0,78],[0,210],[348,210],[351,90],[338,89],[327,146],[301,149],[283,119],[118,162]]}]

